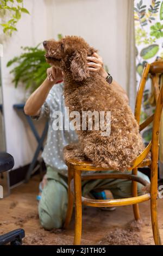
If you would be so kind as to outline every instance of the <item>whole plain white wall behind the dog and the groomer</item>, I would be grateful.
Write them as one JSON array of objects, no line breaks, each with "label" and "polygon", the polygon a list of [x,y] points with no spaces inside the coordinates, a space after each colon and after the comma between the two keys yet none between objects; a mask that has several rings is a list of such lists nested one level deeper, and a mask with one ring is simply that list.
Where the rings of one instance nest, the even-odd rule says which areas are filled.
[{"label": "whole plain white wall behind the dog and the groomer", "polygon": [[[18,22],[18,32],[4,45],[2,58],[3,95],[7,151],[15,168],[31,161],[36,143],[26,120],[12,109],[23,102],[24,91],[14,88],[6,64],[21,52],[57,34],[83,36],[99,49],[114,79],[126,89],[126,29],[128,0],[24,0],[30,15]],[[37,124],[38,126],[38,124]]]}]

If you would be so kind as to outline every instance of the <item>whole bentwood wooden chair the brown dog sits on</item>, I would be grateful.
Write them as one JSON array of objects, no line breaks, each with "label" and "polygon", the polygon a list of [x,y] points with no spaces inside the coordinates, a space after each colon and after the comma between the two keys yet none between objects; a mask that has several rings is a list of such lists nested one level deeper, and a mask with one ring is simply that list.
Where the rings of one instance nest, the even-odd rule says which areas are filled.
[{"label": "whole bentwood wooden chair the brown dog sits on", "polygon": [[[134,161],[132,174],[105,174],[98,173],[92,175],[81,175],[82,172],[87,171],[99,171],[106,170],[104,168],[97,168],[92,162],[89,161],[77,161],[73,159],[66,159],[66,164],[68,166],[68,209],[65,220],[64,228],[68,227],[71,221],[72,211],[73,211],[73,197],[75,202],[75,234],[74,234],[74,245],[80,245],[81,235],[82,235],[82,204],[92,206],[92,207],[112,207],[112,206],[122,206],[122,205],[133,205],[135,220],[140,219],[139,214],[139,203],[151,200],[151,220],[153,228],[153,237],[155,245],[161,245],[161,239],[158,227],[158,217],[157,217],[157,197],[158,197],[158,153],[159,153],[159,130],[160,130],[160,118],[163,106],[163,88],[159,89],[158,85],[158,74],[163,73],[163,63],[154,62],[151,65],[146,64],[143,70],[139,90],[136,97],[135,106],[135,118],[140,124],[140,113],[141,113],[141,103],[143,97],[143,90],[145,89],[145,84],[147,77],[151,74],[154,94],[156,100],[155,113],[149,117],[146,121],[140,124],[140,131],[145,129],[149,124],[153,122],[153,133],[152,141],[148,144],[145,150],[137,156]],[[66,150],[66,148],[65,148]],[[151,151],[151,159],[147,159],[147,155]],[[137,176],[137,168],[148,166],[151,169],[151,192],[143,194],[142,196],[137,196],[137,182],[142,185],[147,186],[148,182]],[[92,180],[92,179],[129,179],[132,181],[132,194],[131,198],[123,199],[110,199],[110,200],[95,200],[82,197],[82,180]],[[149,190],[150,191],[150,190]]]}]

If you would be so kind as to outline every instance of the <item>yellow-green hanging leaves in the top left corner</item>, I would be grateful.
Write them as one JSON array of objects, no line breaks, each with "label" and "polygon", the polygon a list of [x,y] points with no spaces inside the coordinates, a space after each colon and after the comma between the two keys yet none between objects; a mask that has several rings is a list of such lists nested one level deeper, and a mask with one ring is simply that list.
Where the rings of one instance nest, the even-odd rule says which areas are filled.
[{"label": "yellow-green hanging leaves in the top left corner", "polygon": [[23,0],[1,0],[0,16],[6,18],[9,15],[8,21],[1,23],[5,34],[12,35],[14,31],[17,31],[16,25],[22,13],[29,14],[29,11],[23,7]]}]

